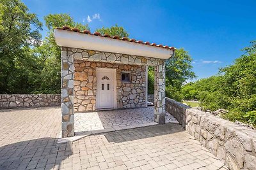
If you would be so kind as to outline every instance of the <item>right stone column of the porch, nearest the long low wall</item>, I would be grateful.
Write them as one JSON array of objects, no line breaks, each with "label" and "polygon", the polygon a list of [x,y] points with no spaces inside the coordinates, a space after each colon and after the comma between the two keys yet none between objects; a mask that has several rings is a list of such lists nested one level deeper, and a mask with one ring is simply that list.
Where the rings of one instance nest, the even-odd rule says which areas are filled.
[{"label": "right stone column of the porch, nearest the long low wall", "polygon": [[165,63],[159,60],[155,66],[154,83],[154,120],[158,124],[165,124]]}]

